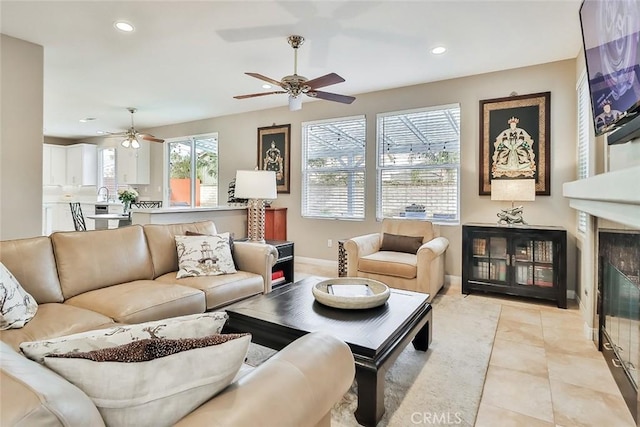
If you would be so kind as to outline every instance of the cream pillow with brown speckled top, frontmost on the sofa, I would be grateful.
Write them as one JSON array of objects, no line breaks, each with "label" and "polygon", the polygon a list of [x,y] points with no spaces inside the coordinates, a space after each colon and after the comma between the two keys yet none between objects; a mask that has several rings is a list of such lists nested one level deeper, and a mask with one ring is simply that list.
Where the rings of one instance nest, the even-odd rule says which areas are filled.
[{"label": "cream pillow with brown speckled top, frontmost on the sofa", "polygon": [[[131,352],[149,353],[148,361],[98,362],[76,353],[48,356],[44,363],[83,390],[107,425],[173,425],[229,385],[242,366],[251,336],[236,334],[221,343],[217,337],[142,340],[94,354],[108,360],[105,353],[114,353],[112,359],[119,360],[130,359]],[[153,358],[172,346],[185,350]]]}]

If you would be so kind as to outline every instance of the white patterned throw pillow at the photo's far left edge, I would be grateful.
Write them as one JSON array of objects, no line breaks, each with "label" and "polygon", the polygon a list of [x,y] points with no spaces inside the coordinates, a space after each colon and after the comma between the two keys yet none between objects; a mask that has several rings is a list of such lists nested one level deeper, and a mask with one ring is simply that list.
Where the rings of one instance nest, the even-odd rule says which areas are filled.
[{"label": "white patterned throw pillow at the photo's far left edge", "polygon": [[36,311],[36,300],[0,262],[0,330],[22,328]]}]

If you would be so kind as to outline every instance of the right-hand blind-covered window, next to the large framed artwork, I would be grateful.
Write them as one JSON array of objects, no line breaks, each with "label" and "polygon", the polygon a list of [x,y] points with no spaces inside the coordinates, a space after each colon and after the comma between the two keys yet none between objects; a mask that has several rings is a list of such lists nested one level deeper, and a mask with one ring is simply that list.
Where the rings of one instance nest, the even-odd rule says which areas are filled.
[{"label": "right-hand blind-covered window, next to the large framed artwork", "polygon": [[376,217],[460,218],[460,106],[378,114]]}]

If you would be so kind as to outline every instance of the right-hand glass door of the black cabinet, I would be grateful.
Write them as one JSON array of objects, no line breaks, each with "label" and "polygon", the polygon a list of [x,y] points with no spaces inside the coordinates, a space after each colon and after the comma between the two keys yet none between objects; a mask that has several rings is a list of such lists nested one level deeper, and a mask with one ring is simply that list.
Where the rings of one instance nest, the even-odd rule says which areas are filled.
[{"label": "right-hand glass door of the black cabinet", "polygon": [[516,239],[513,268],[518,285],[553,287],[553,241]]}]

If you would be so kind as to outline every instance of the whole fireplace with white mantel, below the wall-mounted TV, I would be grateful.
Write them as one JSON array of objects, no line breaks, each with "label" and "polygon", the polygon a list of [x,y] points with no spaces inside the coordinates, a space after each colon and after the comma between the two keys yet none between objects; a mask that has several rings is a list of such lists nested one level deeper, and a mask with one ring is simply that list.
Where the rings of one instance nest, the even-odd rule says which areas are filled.
[{"label": "whole fireplace with white mantel, below the wall-mounted TV", "polygon": [[595,218],[578,238],[583,245],[582,281],[587,283],[578,300],[586,326],[597,332],[598,348],[640,427],[638,182],[640,166],[632,166],[564,183],[563,195],[569,206]]}]

